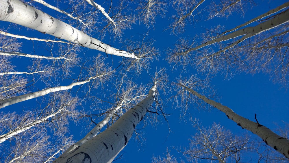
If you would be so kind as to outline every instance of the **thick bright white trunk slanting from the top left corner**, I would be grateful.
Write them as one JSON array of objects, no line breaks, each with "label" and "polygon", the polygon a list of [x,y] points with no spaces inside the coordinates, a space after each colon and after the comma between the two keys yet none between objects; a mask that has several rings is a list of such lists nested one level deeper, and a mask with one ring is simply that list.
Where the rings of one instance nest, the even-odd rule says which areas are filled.
[{"label": "thick bright white trunk slanting from the top left corner", "polygon": [[19,0],[0,0],[0,8],[1,21],[8,21],[29,27],[41,33],[50,34],[57,38],[107,54],[139,59],[132,53],[111,47]]}]

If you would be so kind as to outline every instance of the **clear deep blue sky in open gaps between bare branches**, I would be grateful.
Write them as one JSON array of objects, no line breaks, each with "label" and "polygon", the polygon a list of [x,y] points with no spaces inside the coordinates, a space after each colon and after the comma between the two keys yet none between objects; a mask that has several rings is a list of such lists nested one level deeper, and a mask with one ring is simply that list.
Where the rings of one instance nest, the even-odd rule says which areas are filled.
[{"label": "clear deep blue sky in open gaps between bare branches", "polygon": [[[190,66],[186,67],[187,72],[185,73],[181,72],[180,69],[172,70],[172,66],[170,66],[165,60],[168,54],[168,49],[174,48],[174,45],[178,43],[177,39],[179,37],[191,39],[195,35],[205,32],[205,29],[210,29],[211,27],[215,27],[217,25],[225,25],[225,28],[230,29],[246,21],[249,21],[256,16],[259,16],[260,14],[263,14],[268,10],[276,8],[277,6],[285,2],[286,1],[283,0],[269,2],[258,0],[255,1],[254,6],[246,8],[244,17],[240,16],[240,14],[233,14],[234,16],[230,16],[228,19],[216,18],[210,21],[204,21],[201,19],[201,21],[195,22],[191,25],[188,23],[184,34],[178,36],[172,35],[171,29],[164,31],[164,29],[166,29],[171,23],[171,15],[175,13],[175,10],[171,9],[171,4],[169,4],[166,17],[162,18],[158,16],[156,18],[156,23],[154,25],[155,29],[148,29],[144,25],[140,25],[137,22],[136,24],[131,26],[131,29],[126,29],[124,31],[123,40],[125,40],[125,38],[130,38],[131,36],[133,36],[135,40],[138,40],[142,37],[142,34],[145,34],[149,31],[147,38],[154,39],[155,42],[153,43],[153,46],[155,46],[160,51],[160,57],[158,58],[158,60],[153,60],[150,63],[151,69],[149,70],[149,73],[153,74],[156,68],[160,69],[162,67],[165,67],[166,73],[168,73],[169,76],[169,80],[175,82],[175,78],[179,77],[180,73],[184,76],[197,74],[197,71]],[[203,5],[208,5],[208,3],[209,2],[206,1]],[[43,9],[44,12],[47,12],[48,14],[51,14],[56,18],[57,15],[59,15],[56,15],[55,12],[44,8],[41,5],[38,6],[39,8]],[[7,29],[8,26],[9,23],[0,23],[0,28]],[[27,30],[26,28],[21,28],[20,30],[11,28],[8,29],[8,32],[29,37],[53,38],[52,36],[40,34],[37,31],[32,31],[30,29]],[[97,32],[92,34],[92,36],[94,37],[98,37],[98,35],[99,34]],[[23,42],[23,47],[21,49],[24,53],[33,53],[34,50],[32,49],[32,47],[34,47],[34,49],[38,50],[39,53],[41,52],[46,55],[49,54],[49,52],[45,52],[45,50],[43,50],[45,44],[36,41],[34,43],[26,40],[21,41]],[[105,43],[109,43],[116,48],[123,49],[121,47],[122,44],[119,44],[118,40],[114,41],[110,37],[105,37],[102,39],[102,41]],[[84,55],[88,57],[98,53],[99,52],[82,48],[82,51],[79,55]],[[106,57],[104,53],[102,54],[104,57]],[[25,60],[27,60],[27,63],[30,62],[28,61],[29,59],[21,58],[21,60],[19,60],[19,58],[14,58],[13,62],[17,66],[17,68],[15,69],[18,71],[21,71],[21,69],[25,69],[25,66],[27,66]],[[110,65],[117,66],[118,64],[115,63],[117,63],[119,60],[121,60],[121,58],[109,55],[105,62]],[[78,75],[78,73],[75,74]],[[152,85],[152,80],[150,78],[147,78],[148,75],[149,74],[144,71],[141,75],[135,76],[135,82],[138,84]],[[248,118],[252,121],[255,121],[254,115],[257,114],[257,119],[259,123],[265,125],[273,131],[274,129],[276,129],[275,123],[282,126],[284,121],[286,124],[289,124],[288,87],[284,87],[284,85],[280,83],[273,83],[269,75],[264,73],[257,73],[251,75],[243,72],[240,74],[236,73],[234,76],[229,77],[229,79],[224,78],[224,75],[221,75],[219,73],[210,81],[210,84],[212,85],[213,89],[216,90],[219,97],[219,101],[217,102],[228,106],[237,114],[244,116],[245,118]],[[113,81],[114,80],[112,80],[111,82]],[[60,85],[70,83],[70,80],[65,80],[62,81]],[[39,85],[37,85],[37,87],[45,88],[45,85],[43,83],[40,83]],[[143,133],[143,137],[145,138],[145,140],[142,140],[142,142],[140,143],[135,140],[135,136],[132,136],[131,140],[129,140],[128,145],[120,153],[122,155],[122,158],[116,160],[115,162],[135,162],[136,159],[138,160],[137,162],[140,163],[151,162],[152,156],[164,156],[163,153],[166,152],[167,147],[169,150],[171,150],[171,154],[176,156],[179,161],[183,160],[186,162],[187,160],[182,156],[182,154],[178,153],[173,147],[187,147],[189,142],[188,139],[196,132],[196,130],[192,127],[191,122],[188,120],[188,118],[190,117],[200,119],[202,125],[207,127],[212,125],[213,122],[216,122],[224,125],[234,134],[238,135],[244,133],[244,129],[241,129],[241,127],[237,126],[236,123],[229,120],[224,113],[214,108],[212,108],[210,112],[206,110],[199,111],[197,108],[195,108],[194,105],[192,105],[185,116],[186,119],[180,119],[181,112],[179,111],[179,108],[172,107],[172,103],[167,100],[168,97],[172,95],[173,94],[159,95],[159,98],[164,101],[163,108],[165,112],[167,114],[170,114],[167,119],[170,125],[171,132],[169,132],[166,121],[164,121],[164,118],[160,115],[158,118],[160,122],[155,127],[147,125],[144,129],[140,130],[140,132]],[[89,103],[85,103],[85,105],[82,105],[82,107],[84,108],[89,108],[89,106]],[[33,108],[35,107],[36,103],[33,103],[31,101],[25,101],[10,106],[9,110],[21,112],[23,109],[29,108],[33,110]],[[4,109],[5,111],[7,111],[8,107]],[[4,112],[3,109],[1,110],[1,112],[2,111]],[[94,112],[92,113],[97,114]],[[137,128],[141,128],[142,125],[143,124],[140,124],[139,126],[137,126]],[[86,135],[85,132],[79,133],[79,129],[81,129],[81,127],[83,127],[82,124],[78,124],[77,126],[70,126],[70,133],[74,135],[73,138],[75,140],[79,140]],[[254,162],[254,160],[252,162]]]}]

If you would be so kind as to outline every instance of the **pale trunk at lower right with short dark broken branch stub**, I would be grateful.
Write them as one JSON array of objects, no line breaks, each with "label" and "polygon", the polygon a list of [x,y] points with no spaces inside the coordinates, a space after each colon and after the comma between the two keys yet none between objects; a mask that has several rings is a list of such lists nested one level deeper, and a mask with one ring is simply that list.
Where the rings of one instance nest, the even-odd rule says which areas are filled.
[{"label": "pale trunk at lower right with short dark broken branch stub", "polygon": [[205,101],[206,103],[214,106],[215,108],[217,108],[221,112],[224,112],[227,115],[227,117],[229,119],[231,119],[232,121],[236,122],[237,125],[241,126],[244,129],[247,129],[247,130],[253,132],[253,134],[258,135],[260,138],[263,139],[263,141],[267,145],[269,145],[270,147],[272,147],[276,151],[283,154],[286,158],[289,158],[289,140],[288,139],[283,138],[283,137],[275,134],[273,131],[271,131],[270,129],[268,129],[267,127],[265,127],[263,125],[260,125],[258,123],[253,122],[253,121],[250,121],[247,118],[239,116],[238,114],[236,114],[233,110],[231,110],[227,106],[224,106],[220,103],[217,103],[216,101],[213,101],[211,99],[208,99],[205,96],[200,95],[196,91],[194,91],[194,90],[192,90],[192,89],[190,89],[190,88],[188,88],[182,84],[180,84],[180,85],[183,86],[184,88],[186,88],[188,91],[190,91],[193,95],[195,95],[195,96],[199,97],[200,99],[202,99],[203,101]]}]

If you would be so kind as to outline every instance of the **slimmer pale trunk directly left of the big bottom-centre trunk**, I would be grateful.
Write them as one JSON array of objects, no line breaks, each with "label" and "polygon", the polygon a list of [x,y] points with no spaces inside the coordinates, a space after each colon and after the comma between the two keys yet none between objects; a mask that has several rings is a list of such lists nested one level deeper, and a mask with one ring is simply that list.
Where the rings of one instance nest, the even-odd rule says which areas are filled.
[{"label": "slimmer pale trunk directly left of the big bottom-centre trunk", "polygon": [[84,136],[84,138],[82,138],[81,140],[79,140],[78,142],[76,142],[74,145],[72,145],[71,147],[69,147],[64,153],[68,153],[73,151],[74,149],[76,149],[77,147],[80,147],[83,143],[87,142],[88,140],[90,140],[91,138],[95,137],[100,130],[102,129],[103,126],[105,126],[108,121],[110,120],[110,118],[114,115],[114,113],[121,108],[121,106],[123,105],[123,103],[119,103],[114,109],[112,109],[107,115],[106,117],[100,121],[99,123],[97,123],[97,125],[88,132],[88,134],[86,134],[86,136]]}]

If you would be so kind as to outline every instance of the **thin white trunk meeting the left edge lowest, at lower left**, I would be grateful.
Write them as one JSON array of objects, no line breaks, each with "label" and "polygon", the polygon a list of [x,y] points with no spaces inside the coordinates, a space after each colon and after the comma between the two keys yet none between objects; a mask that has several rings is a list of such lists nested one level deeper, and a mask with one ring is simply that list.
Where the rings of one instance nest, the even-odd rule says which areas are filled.
[{"label": "thin white trunk meeting the left edge lowest, at lower left", "polygon": [[15,136],[15,135],[17,135],[17,134],[20,134],[21,132],[30,129],[31,127],[37,125],[38,123],[44,122],[44,121],[46,121],[47,119],[55,116],[56,114],[58,114],[59,112],[61,112],[65,107],[66,107],[66,106],[64,106],[63,108],[60,108],[60,109],[57,110],[56,112],[54,112],[54,113],[52,113],[52,114],[49,114],[48,116],[46,116],[46,117],[44,117],[44,118],[41,118],[41,119],[39,119],[39,120],[36,120],[36,121],[34,121],[34,122],[32,122],[32,123],[28,123],[27,125],[24,125],[24,126],[18,128],[18,129],[15,129],[15,130],[13,130],[13,131],[10,131],[10,132],[6,133],[6,134],[0,135],[0,144],[1,144],[2,142],[4,142],[5,140],[8,140],[8,139],[11,138],[12,136]]}]

